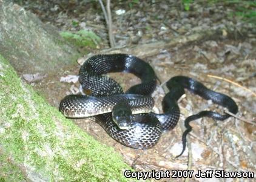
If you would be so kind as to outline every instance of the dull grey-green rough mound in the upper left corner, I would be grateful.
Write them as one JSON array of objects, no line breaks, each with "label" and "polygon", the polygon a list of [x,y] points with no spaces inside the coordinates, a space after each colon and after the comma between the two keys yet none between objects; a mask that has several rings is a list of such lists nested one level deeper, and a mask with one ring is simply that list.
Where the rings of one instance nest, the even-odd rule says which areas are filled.
[{"label": "dull grey-green rough mound in the upper left corner", "polygon": [[78,51],[58,31],[19,5],[0,0],[0,54],[19,74],[49,73],[75,62]]}]

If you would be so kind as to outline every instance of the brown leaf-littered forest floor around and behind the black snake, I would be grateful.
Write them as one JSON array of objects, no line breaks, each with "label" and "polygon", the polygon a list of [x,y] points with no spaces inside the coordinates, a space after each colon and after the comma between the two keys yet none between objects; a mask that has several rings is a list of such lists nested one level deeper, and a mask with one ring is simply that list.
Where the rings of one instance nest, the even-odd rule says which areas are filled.
[{"label": "brown leaf-littered forest floor around and behind the black snake", "polygon": [[[96,48],[81,48],[84,54],[98,53],[109,48],[108,34],[104,16],[99,3],[86,1],[19,1],[27,10],[35,13],[45,24],[51,24],[59,31],[92,30],[101,43]],[[256,30],[255,24],[249,24],[235,16],[235,4],[218,2],[197,2],[184,10],[180,1],[116,1],[112,4],[113,34],[116,45],[142,45],[154,41],[168,41],[180,35],[223,28],[222,38],[207,39],[186,45],[176,45],[159,51],[159,54],[147,57],[160,80],[184,75],[193,77],[208,88],[231,96],[238,105],[237,118],[231,117],[224,122],[212,119],[200,119],[191,123],[192,169],[224,169],[226,171],[254,171],[256,174]],[[255,10],[255,7],[254,7]],[[123,13],[119,15],[120,13]],[[244,33],[243,29],[248,30]],[[231,30],[234,34],[229,34]],[[136,56],[136,55],[135,55]],[[70,89],[78,88],[79,83],[60,82],[61,77],[77,75],[79,65],[67,67],[64,73],[54,77],[47,76],[33,83],[53,106],[58,107],[60,100],[70,94]],[[110,74],[124,89],[140,82],[132,74]],[[217,76],[217,77],[212,77]],[[227,82],[228,79],[232,82]],[[237,85],[238,83],[239,85]],[[161,99],[164,92],[158,86],[153,93],[156,112],[161,112]],[[204,109],[223,112],[223,108],[186,92],[179,102],[183,125],[188,115]],[[89,119],[74,120],[84,131],[97,140],[113,146],[123,154],[124,160],[138,171],[187,169],[187,152],[175,158],[181,151],[182,131],[178,125],[165,132],[152,149],[146,151],[127,148],[109,137],[104,130]],[[164,179],[163,181],[166,181]],[[179,179],[176,179],[180,181]],[[231,181],[218,178],[209,181]],[[239,179],[236,179],[240,181]],[[168,181],[168,180],[167,180]],[[175,181],[175,180],[171,180]],[[207,181],[193,178],[190,181]],[[243,179],[242,181],[246,181]]]}]

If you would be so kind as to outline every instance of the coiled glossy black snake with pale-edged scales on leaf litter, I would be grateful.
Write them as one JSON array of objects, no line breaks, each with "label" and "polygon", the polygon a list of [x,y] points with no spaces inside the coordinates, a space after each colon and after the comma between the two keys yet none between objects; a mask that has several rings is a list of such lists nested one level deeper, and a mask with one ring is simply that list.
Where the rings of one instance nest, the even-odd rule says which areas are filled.
[{"label": "coiled glossy black snake with pale-edged scales on leaf litter", "polygon": [[[141,79],[141,83],[124,93],[115,80],[103,76],[110,72],[135,74]],[[70,118],[95,115],[96,122],[112,138],[136,149],[152,148],[164,130],[173,129],[177,125],[180,117],[177,100],[184,94],[184,88],[224,106],[234,114],[238,111],[231,97],[207,89],[202,83],[189,77],[176,76],[166,83],[169,93],[164,96],[162,102],[163,114],[150,112],[153,106],[150,94],[156,88],[157,76],[149,63],[128,54],[102,54],[90,57],[79,70],[79,82],[83,89],[90,91],[90,96],[66,96],[61,100],[59,111]],[[181,154],[186,148],[186,135],[192,130],[189,122],[201,117],[225,120],[229,116],[214,111],[201,111],[187,117],[184,122],[186,131],[182,137]]]}]

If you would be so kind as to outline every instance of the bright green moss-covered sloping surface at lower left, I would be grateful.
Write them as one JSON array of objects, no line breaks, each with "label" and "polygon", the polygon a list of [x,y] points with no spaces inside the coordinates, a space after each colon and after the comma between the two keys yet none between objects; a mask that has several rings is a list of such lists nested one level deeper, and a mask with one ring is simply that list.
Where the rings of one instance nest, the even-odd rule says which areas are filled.
[{"label": "bright green moss-covered sloping surface at lower left", "polygon": [[0,181],[129,181],[130,169],[45,103],[0,55]]}]

